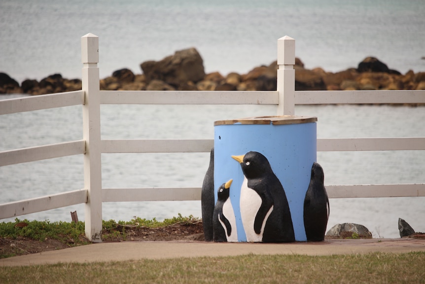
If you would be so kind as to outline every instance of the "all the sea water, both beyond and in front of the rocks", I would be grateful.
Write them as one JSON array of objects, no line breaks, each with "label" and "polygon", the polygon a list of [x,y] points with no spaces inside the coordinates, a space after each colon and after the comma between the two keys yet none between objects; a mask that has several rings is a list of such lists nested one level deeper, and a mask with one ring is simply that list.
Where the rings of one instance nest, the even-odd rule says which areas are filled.
[{"label": "all the sea water, both beyond and in front of the rocks", "polygon": [[[423,0],[2,0],[0,72],[21,82],[61,73],[81,78],[80,38],[99,36],[100,75],[141,73],[140,63],[196,47],[207,73],[247,73],[276,60],[277,40],[296,40],[306,68],[337,72],[366,56],[391,69],[425,71]],[[0,95],[0,99],[17,95]],[[273,115],[270,106],[102,106],[103,139],[212,138],[213,121]],[[319,138],[425,136],[424,108],[302,106]],[[196,122],[196,123],[194,123]],[[1,116],[0,151],[82,139],[81,107]],[[325,184],[424,183],[425,151],[318,153]],[[209,153],[103,154],[103,187],[201,186]],[[83,158],[0,167],[0,203],[83,188]],[[424,198],[332,199],[329,228],[365,225],[398,237],[397,220],[425,231]],[[103,219],[201,216],[200,202],[104,203]],[[83,204],[21,216],[70,221]],[[6,219],[2,221],[9,221]]]}]

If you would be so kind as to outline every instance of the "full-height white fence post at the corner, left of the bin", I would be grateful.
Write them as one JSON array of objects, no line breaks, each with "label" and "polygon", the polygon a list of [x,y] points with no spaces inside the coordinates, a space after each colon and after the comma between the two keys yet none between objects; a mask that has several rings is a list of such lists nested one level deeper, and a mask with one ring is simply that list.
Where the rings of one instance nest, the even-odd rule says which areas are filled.
[{"label": "full-height white fence post at the corner, left of the bin", "polygon": [[88,190],[85,205],[85,233],[89,241],[101,243],[102,230],[102,163],[99,91],[99,37],[81,37],[83,105],[84,188]]}]

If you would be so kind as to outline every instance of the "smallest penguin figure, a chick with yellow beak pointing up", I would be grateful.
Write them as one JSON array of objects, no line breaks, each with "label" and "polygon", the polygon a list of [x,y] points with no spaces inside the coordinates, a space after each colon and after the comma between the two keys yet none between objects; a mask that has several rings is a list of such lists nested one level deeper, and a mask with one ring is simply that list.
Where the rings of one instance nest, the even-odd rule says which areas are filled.
[{"label": "smallest penguin figure, a chick with yellow beak pointing up", "polygon": [[232,179],[223,183],[217,191],[217,203],[213,213],[213,241],[238,242],[236,218],[230,203],[230,185]]}]

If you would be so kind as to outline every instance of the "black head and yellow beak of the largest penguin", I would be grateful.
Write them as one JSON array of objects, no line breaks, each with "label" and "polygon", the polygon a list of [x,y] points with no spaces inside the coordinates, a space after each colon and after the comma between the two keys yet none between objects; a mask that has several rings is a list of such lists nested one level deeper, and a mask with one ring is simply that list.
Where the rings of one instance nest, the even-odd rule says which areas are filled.
[{"label": "black head and yellow beak of the largest penguin", "polygon": [[267,158],[258,152],[251,151],[243,156],[232,156],[232,158],[241,163],[242,171],[247,178],[260,177],[272,170]]}]

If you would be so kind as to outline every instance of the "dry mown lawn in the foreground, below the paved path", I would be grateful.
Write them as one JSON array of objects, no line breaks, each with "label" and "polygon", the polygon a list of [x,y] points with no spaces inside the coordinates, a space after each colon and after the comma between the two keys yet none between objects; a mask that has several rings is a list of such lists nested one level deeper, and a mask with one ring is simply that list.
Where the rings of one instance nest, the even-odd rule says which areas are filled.
[{"label": "dry mown lawn in the foreground, below the paved path", "polygon": [[0,283],[425,283],[425,252],[0,267]]}]

